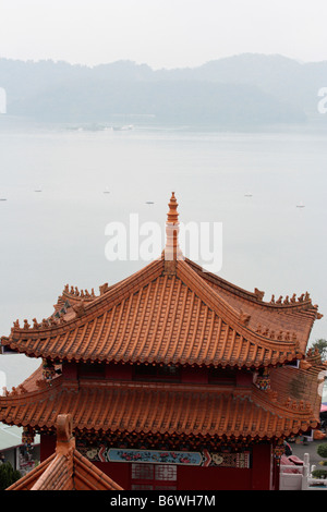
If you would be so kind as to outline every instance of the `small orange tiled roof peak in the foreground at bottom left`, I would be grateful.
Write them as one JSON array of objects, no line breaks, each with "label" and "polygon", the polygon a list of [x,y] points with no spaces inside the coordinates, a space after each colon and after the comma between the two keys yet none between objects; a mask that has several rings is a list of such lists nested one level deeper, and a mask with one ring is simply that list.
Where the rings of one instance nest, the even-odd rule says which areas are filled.
[{"label": "small orange tiled roof peak in the foreground at bottom left", "polygon": [[58,416],[56,452],[7,490],[122,490],[75,449],[70,423]]}]

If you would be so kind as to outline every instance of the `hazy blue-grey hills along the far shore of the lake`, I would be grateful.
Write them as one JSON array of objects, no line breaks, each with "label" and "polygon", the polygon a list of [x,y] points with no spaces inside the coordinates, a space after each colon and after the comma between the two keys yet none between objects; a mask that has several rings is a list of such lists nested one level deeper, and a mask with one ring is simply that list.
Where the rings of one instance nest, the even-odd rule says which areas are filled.
[{"label": "hazy blue-grey hills along the far shore of the lake", "polygon": [[318,90],[327,62],[242,54],[194,69],[154,71],[119,61],[94,68],[0,59],[9,115],[50,122],[106,122],[116,114],[156,122],[257,125],[325,122]]}]

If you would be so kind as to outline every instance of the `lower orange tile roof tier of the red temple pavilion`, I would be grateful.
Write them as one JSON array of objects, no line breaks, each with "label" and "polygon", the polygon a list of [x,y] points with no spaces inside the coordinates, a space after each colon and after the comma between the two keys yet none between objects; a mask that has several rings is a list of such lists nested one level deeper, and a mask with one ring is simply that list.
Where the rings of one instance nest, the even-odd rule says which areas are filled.
[{"label": "lower orange tile roof tier of the red temple pavilion", "polygon": [[[284,371],[289,369],[286,367]],[[294,371],[288,377],[289,383],[296,378],[305,387],[307,374]],[[278,378],[272,381],[269,391],[255,386],[106,380],[81,380],[74,388],[60,376],[51,387],[44,385],[0,398],[0,420],[41,429],[51,428],[59,413],[70,413],[80,430],[252,438],[289,436],[315,427],[318,413],[313,411],[312,397],[298,400],[296,392],[284,395]],[[311,390],[316,394],[317,382],[315,386],[314,390],[312,382]]]}]

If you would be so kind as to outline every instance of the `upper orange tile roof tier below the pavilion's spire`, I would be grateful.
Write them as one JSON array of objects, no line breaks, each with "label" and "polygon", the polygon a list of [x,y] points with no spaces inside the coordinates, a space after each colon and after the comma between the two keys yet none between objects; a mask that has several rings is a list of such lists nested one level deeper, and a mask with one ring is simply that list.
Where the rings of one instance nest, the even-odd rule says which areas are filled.
[{"label": "upper orange tile roof tier below the pavilion's spire", "polygon": [[65,321],[15,327],[2,343],[52,361],[258,367],[303,356],[317,314],[310,301],[270,305],[221,282],[189,260],[167,275],[160,259],[80,313],[70,312]]}]

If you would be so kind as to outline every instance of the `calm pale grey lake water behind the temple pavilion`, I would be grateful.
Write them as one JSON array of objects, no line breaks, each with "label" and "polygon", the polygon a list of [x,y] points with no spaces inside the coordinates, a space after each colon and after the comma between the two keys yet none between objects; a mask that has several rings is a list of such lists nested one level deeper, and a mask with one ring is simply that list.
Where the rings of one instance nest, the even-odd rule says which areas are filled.
[{"label": "calm pale grey lake water behind the temple pavilion", "polygon": [[[326,339],[326,142],[327,133],[303,130],[0,123],[0,198],[7,199],[0,202],[0,334],[16,319],[49,316],[66,283],[97,293],[144,267],[144,260],[108,261],[106,225],[129,228],[130,214],[137,214],[140,224],[157,222],[165,234],[174,191],[180,221],[222,223],[217,273],[265,291],[268,301],[308,291],[325,314],[311,341]],[[24,355],[0,357],[9,387],[38,365]]]}]

